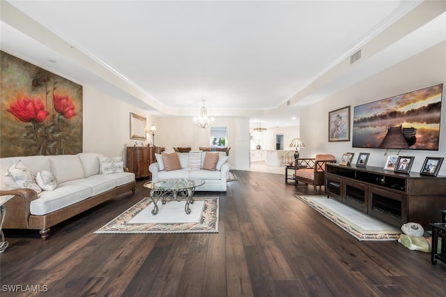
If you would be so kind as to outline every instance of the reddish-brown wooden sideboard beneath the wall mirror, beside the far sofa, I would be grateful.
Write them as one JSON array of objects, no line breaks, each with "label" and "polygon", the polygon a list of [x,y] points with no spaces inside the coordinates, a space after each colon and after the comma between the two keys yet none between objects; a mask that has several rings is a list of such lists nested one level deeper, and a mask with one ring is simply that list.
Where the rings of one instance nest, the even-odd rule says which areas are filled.
[{"label": "reddish-brown wooden sideboard beneath the wall mirror, beside the far sofa", "polygon": [[159,146],[128,146],[127,167],[136,178],[151,177],[148,166],[156,162],[155,153],[162,153],[163,147]]}]

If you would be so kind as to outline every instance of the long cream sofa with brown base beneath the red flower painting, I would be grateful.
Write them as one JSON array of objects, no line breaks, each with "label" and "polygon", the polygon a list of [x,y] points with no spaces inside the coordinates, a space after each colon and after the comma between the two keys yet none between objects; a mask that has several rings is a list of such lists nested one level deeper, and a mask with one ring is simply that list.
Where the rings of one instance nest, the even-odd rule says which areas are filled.
[{"label": "long cream sofa with brown base beneath the red flower painting", "polygon": [[[123,192],[134,192],[134,174],[123,168],[119,159],[105,159],[99,153],[0,158],[0,195],[15,195],[5,204],[3,228],[40,229],[45,240],[49,227]],[[17,177],[17,170],[11,170],[20,169],[15,168],[19,165],[26,167],[32,176],[39,173],[40,177],[51,176],[47,180],[55,181],[55,177],[56,182],[47,190],[40,189],[47,188],[46,185],[23,183]],[[38,180],[42,184],[43,178]]]}]

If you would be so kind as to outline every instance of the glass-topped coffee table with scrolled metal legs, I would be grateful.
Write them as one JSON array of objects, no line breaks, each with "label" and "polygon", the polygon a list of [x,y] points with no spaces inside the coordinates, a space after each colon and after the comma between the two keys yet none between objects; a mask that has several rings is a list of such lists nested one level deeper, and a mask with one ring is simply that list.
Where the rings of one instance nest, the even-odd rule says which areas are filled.
[{"label": "glass-topped coffee table with scrolled metal legs", "polygon": [[156,215],[158,213],[157,202],[160,199],[162,204],[166,204],[167,199],[178,202],[181,199],[185,199],[186,205],[184,209],[187,214],[190,214],[189,205],[194,203],[193,195],[195,188],[204,185],[204,183],[205,181],[201,178],[167,178],[144,183],[144,188],[151,190],[151,199],[153,201],[152,214]]}]

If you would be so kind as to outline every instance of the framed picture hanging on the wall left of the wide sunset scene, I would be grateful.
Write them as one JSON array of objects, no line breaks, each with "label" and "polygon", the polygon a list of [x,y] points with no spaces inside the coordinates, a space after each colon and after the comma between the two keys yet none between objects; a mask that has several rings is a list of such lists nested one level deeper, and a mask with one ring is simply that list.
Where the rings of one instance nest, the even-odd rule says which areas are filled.
[{"label": "framed picture hanging on the wall left of the wide sunset scene", "polygon": [[350,105],[328,113],[328,141],[350,141]]}]

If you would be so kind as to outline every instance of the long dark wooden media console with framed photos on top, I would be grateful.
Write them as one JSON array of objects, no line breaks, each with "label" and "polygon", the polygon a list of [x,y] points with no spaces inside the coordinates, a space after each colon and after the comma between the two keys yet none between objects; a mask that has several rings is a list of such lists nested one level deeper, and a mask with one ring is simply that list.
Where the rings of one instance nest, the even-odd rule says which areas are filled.
[{"label": "long dark wooden media console with framed photos on top", "polygon": [[446,209],[446,176],[327,164],[325,192],[396,227],[417,222],[431,229],[429,223],[440,222],[440,210]]}]

